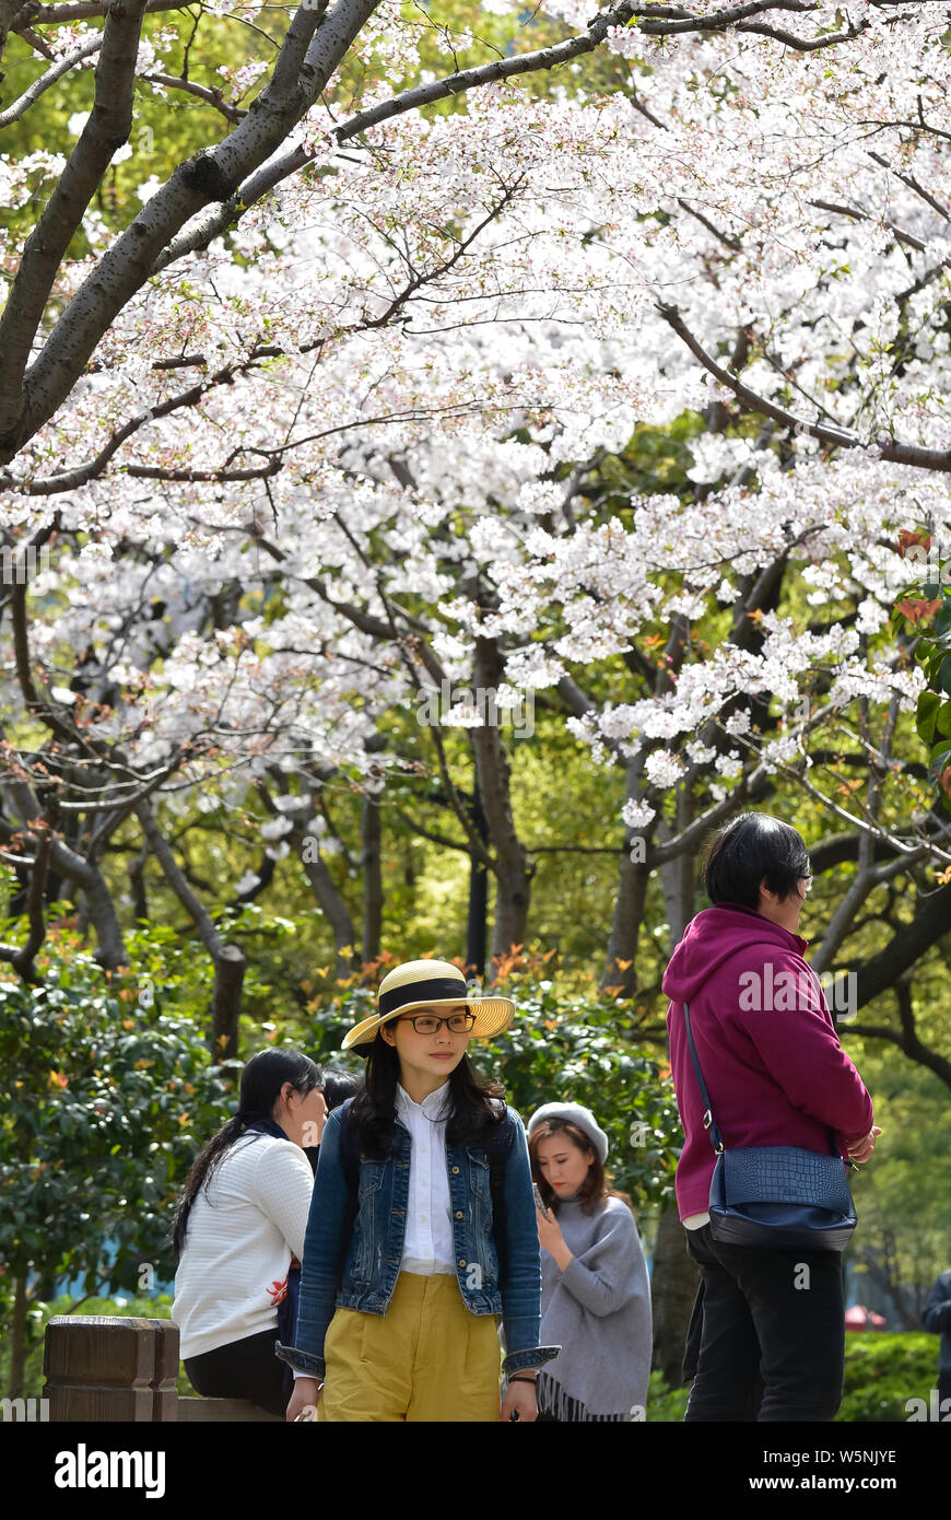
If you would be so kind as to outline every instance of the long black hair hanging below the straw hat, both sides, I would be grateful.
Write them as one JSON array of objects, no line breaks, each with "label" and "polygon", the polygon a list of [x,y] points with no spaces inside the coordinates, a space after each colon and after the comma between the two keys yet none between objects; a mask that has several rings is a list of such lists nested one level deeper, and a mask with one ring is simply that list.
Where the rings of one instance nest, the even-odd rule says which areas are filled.
[{"label": "long black hair hanging below the straw hat, both sides", "polygon": [[[386,1043],[380,1031],[366,1058],[366,1082],[352,1100],[352,1117],[357,1122],[360,1149],[365,1155],[383,1161],[390,1154],[393,1123],[397,1122],[397,1084],[400,1081],[400,1056],[395,1046]],[[477,1143],[489,1125],[504,1117],[504,1105],[492,1102],[503,1096],[503,1087],[495,1081],[483,1081],[468,1055],[454,1072],[450,1072],[450,1119],[445,1126],[448,1146]]]}]

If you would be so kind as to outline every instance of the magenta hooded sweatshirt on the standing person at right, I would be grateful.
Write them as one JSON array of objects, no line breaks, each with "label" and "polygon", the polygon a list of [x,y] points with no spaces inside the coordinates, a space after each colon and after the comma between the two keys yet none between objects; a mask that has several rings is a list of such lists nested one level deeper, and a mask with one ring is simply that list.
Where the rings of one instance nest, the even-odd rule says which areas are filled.
[{"label": "magenta hooded sweatshirt on the standing person at right", "polygon": [[839,1044],[819,977],[802,959],[807,947],[802,935],[755,909],[720,903],[691,918],[670,958],[662,988],[685,1135],[676,1176],[681,1219],[706,1211],[716,1164],[684,1002],[726,1149],[829,1151],[834,1134],[845,1155],[872,1128],[872,1099]]}]

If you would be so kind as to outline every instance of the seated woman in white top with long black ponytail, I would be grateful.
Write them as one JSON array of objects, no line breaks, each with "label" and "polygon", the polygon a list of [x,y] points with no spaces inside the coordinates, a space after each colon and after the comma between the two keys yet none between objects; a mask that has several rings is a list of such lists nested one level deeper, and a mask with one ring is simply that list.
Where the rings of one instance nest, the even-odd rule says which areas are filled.
[{"label": "seated woman in white top with long black ponytail", "polygon": [[319,1143],[325,1117],[316,1062],[260,1050],[242,1075],[237,1114],[188,1173],[175,1211],[172,1319],[191,1386],[208,1398],[284,1414],[293,1383],[273,1347],[287,1339],[304,1254],[313,1190],[304,1146]]}]

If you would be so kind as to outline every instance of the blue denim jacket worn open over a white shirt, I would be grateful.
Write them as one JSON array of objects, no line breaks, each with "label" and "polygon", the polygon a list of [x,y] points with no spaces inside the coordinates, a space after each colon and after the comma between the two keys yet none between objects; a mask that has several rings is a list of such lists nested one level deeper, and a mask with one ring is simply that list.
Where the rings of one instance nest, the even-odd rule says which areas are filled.
[{"label": "blue denim jacket worn open over a white shirt", "polygon": [[[529,1146],[521,1119],[509,1108],[515,1125],[506,1163],[504,1199],[507,1231],[506,1281],[498,1280],[498,1257],[492,1239],[489,1157],[482,1146],[451,1149],[447,1170],[453,1211],[456,1278],[462,1300],[474,1315],[501,1315],[504,1373],[542,1366],[559,1347],[539,1347],[541,1249],[532,1193]],[[298,1328],[292,1347],[276,1347],[276,1356],[298,1373],[325,1376],[324,1338],[334,1306],[384,1315],[400,1275],[406,1208],[409,1202],[412,1140],[400,1120],[386,1161],[360,1158],[360,1207],[337,1287],[337,1256],[346,1207],[346,1180],[340,1164],[340,1110],[324,1126],[314,1176],[310,1218],[304,1237]]]}]

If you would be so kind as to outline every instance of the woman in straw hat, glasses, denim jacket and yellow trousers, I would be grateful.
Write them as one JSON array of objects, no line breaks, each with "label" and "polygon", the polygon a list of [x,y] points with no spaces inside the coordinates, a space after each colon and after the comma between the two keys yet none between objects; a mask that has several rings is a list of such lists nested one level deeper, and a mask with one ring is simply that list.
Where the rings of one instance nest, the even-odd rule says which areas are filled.
[{"label": "woman in straw hat, glasses, denim jacket and yellow trousers", "polygon": [[[304,1242],[287,1418],[535,1420],[541,1254],[526,1135],[469,1040],[512,1023],[448,961],[410,961],[343,1049],[366,1082],[324,1131]],[[498,1316],[507,1380],[500,1409]]]}]

